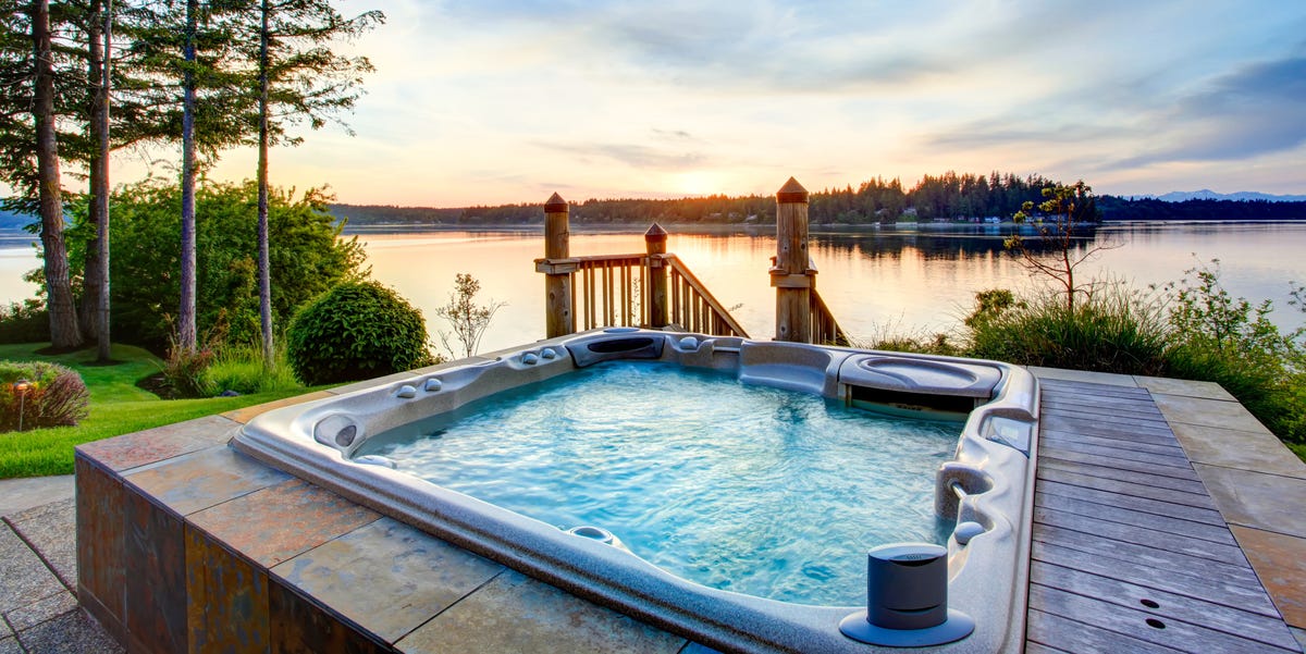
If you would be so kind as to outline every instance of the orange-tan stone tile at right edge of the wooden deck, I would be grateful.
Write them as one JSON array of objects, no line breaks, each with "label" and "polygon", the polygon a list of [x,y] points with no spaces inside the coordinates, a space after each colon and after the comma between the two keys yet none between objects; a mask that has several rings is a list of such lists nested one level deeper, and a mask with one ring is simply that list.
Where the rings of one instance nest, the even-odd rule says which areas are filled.
[{"label": "orange-tan stone tile at right edge of the wooden deck", "polygon": [[1306,628],[1306,538],[1229,527],[1284,620]]}]

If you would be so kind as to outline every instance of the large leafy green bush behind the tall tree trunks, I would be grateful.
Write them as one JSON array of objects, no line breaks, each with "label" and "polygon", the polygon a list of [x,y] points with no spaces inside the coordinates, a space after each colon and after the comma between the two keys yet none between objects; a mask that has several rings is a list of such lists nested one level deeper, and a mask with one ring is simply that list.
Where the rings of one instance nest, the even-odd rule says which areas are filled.
[{"label": "large leafy green bush behind the tall tree trunks", "polygon": [[[197,197],[199,329],[204,333],[225,325],[227,341],[236,343],[253,342],[259,334],[255,198],[252,183],[209,183]],[[338,238],[341,226],[325,211],[328,196],[323,191],[295,197],[278,189],[270,200],[272,309],[285,322],[333,283],[366,275],[366,255],[357,238]],[[120,189],[111,231],[112,332],[120,341],[162,350],[180,296],[179,189],[151,181]],[[81,230],[74,234],[78,238],[71,243],[80,252],[88,235]]]}]

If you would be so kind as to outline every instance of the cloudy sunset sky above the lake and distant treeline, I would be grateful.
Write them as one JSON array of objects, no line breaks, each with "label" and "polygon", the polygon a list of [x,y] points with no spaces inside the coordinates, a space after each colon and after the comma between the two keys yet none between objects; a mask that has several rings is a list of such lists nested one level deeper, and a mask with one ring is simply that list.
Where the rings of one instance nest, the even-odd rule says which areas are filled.
[{"label": "cloudy sunset sky above the lake and distant treeline", "polygon": [[[1306,1],[349,0],[385,25],[272,180],[349,204],[772,195],[944,171],[1306,193]],[[163,162],[174,153],[154,153]],[[141,176],[121,155],[118,180]],[[155,167],[159,163],[154,164]],[[252,150],[212,176],[251,178]]]}]

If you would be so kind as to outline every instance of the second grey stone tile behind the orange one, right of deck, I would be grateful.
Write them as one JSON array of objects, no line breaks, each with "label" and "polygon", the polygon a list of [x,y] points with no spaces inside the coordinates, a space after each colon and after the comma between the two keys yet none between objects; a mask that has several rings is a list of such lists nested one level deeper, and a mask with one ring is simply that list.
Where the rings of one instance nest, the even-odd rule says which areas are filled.
[{"label": "second grey stone tile behind the orange one, right of deck", "polygon": [[1188,459],[1195,463],[1306,479],[1306,462],[1268,429],[1239,432],[1183,423],[1170,427]]}]

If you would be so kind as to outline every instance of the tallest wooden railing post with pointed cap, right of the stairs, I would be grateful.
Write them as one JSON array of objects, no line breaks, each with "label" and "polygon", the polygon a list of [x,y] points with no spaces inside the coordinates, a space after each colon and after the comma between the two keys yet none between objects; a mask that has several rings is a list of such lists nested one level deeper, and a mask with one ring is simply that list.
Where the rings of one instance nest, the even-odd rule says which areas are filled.
[{"label": "tallest wooden railing post with pointed cap, right of the stairs", "polygon": [[776,287],[776,341],[811,342],[811,292],[816,270],[808,262],[807,189],[789,178],[776,193],[776,260],[771,268],[771,286]]}]

